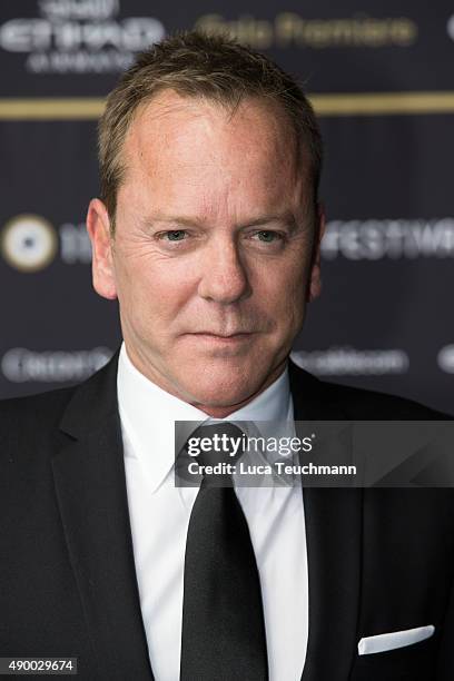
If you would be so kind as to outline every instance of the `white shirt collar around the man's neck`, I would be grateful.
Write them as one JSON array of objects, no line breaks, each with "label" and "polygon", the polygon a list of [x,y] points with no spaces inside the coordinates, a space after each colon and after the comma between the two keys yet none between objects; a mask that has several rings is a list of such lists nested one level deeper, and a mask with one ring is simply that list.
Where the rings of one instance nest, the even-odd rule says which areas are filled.
[{"label": "white shirt collar around the man's neck", "polygon": [[[172,470],[175,462],[175,422],[209,423],[205,412],[170,395],[144,376],[121,345],[117,375],[118,407],[121,425],[130,443],[126,456],[139,458],[145,466],[151,492]],[[225,421],[288,421],[293,418],[287,367],[263,393],[229,414]],[[221,421],[221,420],[216,420]]]}]

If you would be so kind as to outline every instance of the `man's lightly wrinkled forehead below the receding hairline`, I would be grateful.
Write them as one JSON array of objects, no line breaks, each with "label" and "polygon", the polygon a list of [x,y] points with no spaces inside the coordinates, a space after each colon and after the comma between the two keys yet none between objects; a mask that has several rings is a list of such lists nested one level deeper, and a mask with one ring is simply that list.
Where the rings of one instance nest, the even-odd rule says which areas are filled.
[{"label": "man's lightly wrinkled forehead below the receding hairline", "polygon": [[[218,102],[164,90],[142,102],[129,125],[122,149],[126,174],[176,172],[191,167],[225,172],[238,158],[250,172],[305,176],[308,156],[298,152],[294,127],[280,105],[265,98]],[[269,178],[270,179],[270,178]]]}]

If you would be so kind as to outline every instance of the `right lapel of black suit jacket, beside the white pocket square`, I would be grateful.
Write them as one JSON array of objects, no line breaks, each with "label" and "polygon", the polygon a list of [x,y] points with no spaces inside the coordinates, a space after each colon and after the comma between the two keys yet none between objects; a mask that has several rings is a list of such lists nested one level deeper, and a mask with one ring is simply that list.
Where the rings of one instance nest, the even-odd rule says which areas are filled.
[{"label": "right lapel of black suit jacket, beside the white pocket square", "polygon": [[[342,421],[323,383],[290,363],[295,421]],[[363,490],[305,487],[309,632],[302,681],[344,681],[356,655]]]}]

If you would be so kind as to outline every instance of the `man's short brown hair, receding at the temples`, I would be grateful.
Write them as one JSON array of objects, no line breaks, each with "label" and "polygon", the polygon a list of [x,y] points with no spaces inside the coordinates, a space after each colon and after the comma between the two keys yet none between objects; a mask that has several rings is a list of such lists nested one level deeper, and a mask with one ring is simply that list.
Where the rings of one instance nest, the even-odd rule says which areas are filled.
[{"label": "man's short brown hair, receding at the temples", "polygon": [[278,106],[293,126],[297,151],[309,152],[314,201],[322,168],[322,137],[297,81],[264,55],[226,36],[185,31],[141,52],[107,98],[98,126],[101,199],[115,226],[117,191],[125,177],[121,150],[139,105],[164,89],[235,109],[249,97]]}]

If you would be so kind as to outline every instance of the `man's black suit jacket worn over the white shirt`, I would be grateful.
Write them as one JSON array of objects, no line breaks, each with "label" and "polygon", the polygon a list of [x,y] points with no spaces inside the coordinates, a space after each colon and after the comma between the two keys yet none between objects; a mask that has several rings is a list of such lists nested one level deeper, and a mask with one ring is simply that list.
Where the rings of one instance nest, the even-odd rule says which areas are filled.
[{"label": "man's black suit jacket worn over the white shirt", "polygon": [[[77,657],[80,681],[152,680],[117,362],[118,353],[80,386],[0,407],[0,657]],[[323,383],[293,364],[290,386],[296,420],[436,417],[408,401]],[[442,488],[305,488],[309,638],[303,681],[454,679],[453,495]],[[363,636],[425,624],[435,625],[426,641],[357,654]]]}]

